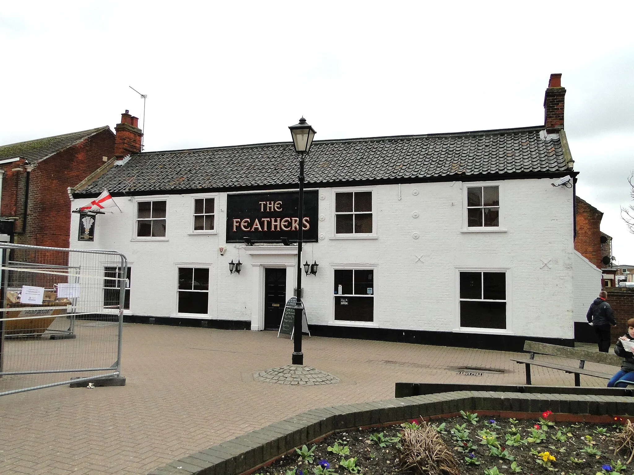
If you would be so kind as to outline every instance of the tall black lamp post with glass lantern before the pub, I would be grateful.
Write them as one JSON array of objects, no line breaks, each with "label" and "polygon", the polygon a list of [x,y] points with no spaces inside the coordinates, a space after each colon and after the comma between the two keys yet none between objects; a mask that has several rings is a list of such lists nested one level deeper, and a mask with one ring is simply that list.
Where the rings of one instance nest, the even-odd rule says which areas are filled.
[{"label": "tall black lamp post with glass lantern before the pub", "polygon": [[304,222],[304,158],[308,155],[313,144],[315,130],[306,124],[306,119],[299,119],[299,124],[288,127],[293,137],[295,153],[299,155],[299,205],[297,206],[297,218],[299,230],[297,231],[297,303],[295,304],[294,341],[292,364],[303,365],[304,353],[302,353],[302,238]]}]

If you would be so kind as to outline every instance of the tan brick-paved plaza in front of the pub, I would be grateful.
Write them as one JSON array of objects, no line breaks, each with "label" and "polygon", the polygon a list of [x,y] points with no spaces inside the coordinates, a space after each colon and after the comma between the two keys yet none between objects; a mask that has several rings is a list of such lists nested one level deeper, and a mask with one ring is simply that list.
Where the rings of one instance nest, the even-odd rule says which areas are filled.
[{"label": "tan brick-paved plaza in front of the pub", "polygon": [[[304,339],[304,363],[340,383],[254,381],[290,364],[291,353],[274,332],[126,324],[127,386],[0,397],[0,472],[145,474],[307,409],[391,398],[397,381],[524,383],[524,365],[509,360],[516,353],[318,337]],[[458,375],[466,366],[504,372]],[[534,367],[533,384],[572,386],[573,376]],[[605,381],[581,376],[581,384]]]}]

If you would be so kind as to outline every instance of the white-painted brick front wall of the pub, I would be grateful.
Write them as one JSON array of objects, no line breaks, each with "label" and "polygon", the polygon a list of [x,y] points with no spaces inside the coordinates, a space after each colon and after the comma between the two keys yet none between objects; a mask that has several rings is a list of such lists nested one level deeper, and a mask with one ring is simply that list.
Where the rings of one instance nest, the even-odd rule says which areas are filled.
[{"label": "white-painted brick front wall of the pub", "polygon": [[[502,232],[464,231],[463,187],[471,185],[466,182],[358,187],[373,191],[376,236],[371,239],[333,236],[333,189],[321,188],[320,241],[306,244],[302,253],[302,262],[314,259],[320,264],[317,276],[302,279],[309,323],[460,331],[459,270],[506,270],[507,330],[482,329],[482,333],[573,338],[573,194],[566,187],[550,186],[551,182],[491,182],[500,184],[500,227],[506,230]],[[257,329],[262,318],[258,293],[262,269],[267,263],[287,267],[290,297],[295,281],[290,266],[296,255],[288,255],[288,248],[275,255],[271,246],[269,250],[254,246],[247,253],[243,244],[226,244],[226,193],[215,195],[217,234],[191,234],[192,196],[209,195],[115,197],[122,213],[98,216],[93,243],[75,241],[78,215],[74,213],[71,246],[116,249],[126,255],[132,266],[131,313],[135,315],[176,315],[178,264],[209,265],[209,315],[200,318],[250,320]],[[135,202],[148,198],[167,200],[165,240],[133,238]],[[72,208],[89,201],[75,200]],[[228,251],[221,256],[218,248],[224,245]],[[237,261],[238,253],[242,273],[230,275],[228,262]],[[337,267],[375,269],[372,324],[334,322],[333,269]]]}]

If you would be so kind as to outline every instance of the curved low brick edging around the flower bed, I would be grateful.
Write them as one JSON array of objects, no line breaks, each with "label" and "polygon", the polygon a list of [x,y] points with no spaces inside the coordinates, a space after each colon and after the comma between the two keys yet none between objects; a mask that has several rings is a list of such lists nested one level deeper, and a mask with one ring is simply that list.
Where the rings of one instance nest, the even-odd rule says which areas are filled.
[{"label": "curved low brick edging around the flower bed", "polygon": [[634,415],[634,398],[576,394],[452,391],[311,409],[257,431],[219,443],[157,467],[150,475],[240,475],[335,431],[384,426],[417,417],[435,419],[460,410],[502,417],[532,418],[552,410],[559,421],[609,422]]}]

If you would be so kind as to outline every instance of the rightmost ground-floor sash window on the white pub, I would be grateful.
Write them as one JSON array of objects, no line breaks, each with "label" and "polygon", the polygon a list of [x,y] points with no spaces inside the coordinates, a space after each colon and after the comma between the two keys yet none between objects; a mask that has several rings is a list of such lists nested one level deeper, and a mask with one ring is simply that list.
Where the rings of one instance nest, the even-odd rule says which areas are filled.
[{"label": "rightmost ground-floor sash window on the white pub", "polygon": [[460,326],[506,329],[506,272],[460,272]]}]

